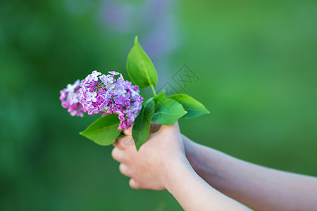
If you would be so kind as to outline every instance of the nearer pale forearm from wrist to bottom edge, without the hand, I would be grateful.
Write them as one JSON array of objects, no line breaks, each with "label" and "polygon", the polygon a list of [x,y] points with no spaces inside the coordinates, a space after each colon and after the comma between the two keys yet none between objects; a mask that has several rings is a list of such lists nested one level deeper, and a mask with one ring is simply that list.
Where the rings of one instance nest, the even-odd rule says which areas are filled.
[{"label": "nearer pale forearm from wrist to bottom edge, without the hand", "polygon": [[175,164],[168,172],[166,188],[185,210],[249,210],[209,186],[187,160]]}]

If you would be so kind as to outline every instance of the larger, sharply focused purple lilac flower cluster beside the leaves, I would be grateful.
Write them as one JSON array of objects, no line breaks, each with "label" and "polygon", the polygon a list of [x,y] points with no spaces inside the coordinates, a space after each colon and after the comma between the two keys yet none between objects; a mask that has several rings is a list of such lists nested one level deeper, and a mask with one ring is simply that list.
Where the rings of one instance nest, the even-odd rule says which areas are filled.
[{"label": "larger, sharply focused purple lilac flower cluster beside the leaves", "polygon": [[131,127],[135,117],[142,107],[142,96],[139,95],[139,87],[125,81],[118,72],[111,71],[108,75],[101,75],[96,70],[88,75],[79,89],[79,102],[87,110],[89,115],[97,113],[119,115],[120,130]]}]

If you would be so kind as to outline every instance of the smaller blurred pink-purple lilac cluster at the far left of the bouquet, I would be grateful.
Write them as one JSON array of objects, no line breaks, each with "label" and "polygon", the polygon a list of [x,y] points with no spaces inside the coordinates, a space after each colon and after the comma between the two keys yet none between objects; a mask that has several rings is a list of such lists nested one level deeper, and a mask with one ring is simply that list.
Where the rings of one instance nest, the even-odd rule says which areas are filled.
[{"label": "smaller blurred pink-purple lilac cluster at the far left of the bouquet", "polygon": [[62,102],[63,108],[68,108],[70,115],[83,117],[83,113],[86,112],[86,110],[79,102],[79,88],[80,80],[78,79],[74,84],[68,84],[66,89],[63,89],[59,92],[61,94],[59,99]]}]

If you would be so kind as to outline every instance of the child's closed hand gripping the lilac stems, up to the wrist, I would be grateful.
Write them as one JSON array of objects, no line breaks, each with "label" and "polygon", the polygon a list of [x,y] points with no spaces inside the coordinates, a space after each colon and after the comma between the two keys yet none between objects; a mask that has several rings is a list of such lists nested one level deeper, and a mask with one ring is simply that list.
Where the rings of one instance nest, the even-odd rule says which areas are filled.
[{"label": "child's closed hand gripping the lilac stems, up to the wrist", "polygon": [[120,172],[131,177],[132,188],[161,191],[166,188],[170,172],[187,162],[177,122],[170,126],[162,125],[158,132],[150,134],[138,152],[131,127],[125,130],[125,135],[113,143],[112,156],[121,162]]}]

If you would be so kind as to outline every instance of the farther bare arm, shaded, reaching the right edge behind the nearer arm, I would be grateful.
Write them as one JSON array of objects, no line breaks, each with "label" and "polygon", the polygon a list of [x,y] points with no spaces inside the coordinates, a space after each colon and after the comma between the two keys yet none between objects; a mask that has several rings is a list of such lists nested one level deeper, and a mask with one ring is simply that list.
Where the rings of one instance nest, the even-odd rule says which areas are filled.
[{"label": "farther bare arm, shaded, reaching the right edge behind the nearer arm", "polygon": [[194,170],[218,191],[255,210],[317,210],[317,178],[254,165],[182,136]]}]

